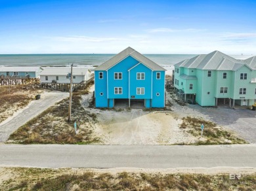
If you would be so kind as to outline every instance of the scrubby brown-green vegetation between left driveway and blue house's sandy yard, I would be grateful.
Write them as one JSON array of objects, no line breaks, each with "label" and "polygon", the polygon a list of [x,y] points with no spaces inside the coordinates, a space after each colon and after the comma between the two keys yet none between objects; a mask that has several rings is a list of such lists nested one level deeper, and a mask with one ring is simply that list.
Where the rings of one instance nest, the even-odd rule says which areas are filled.
[{"label": "scrubby brown-green vegetation between left driveway and blue house's sandy yard", "polygon": [[[89,121],[96,122],[96,114],[83,109],[80,103],[83,94],[88,92],[73,93],[71,122],[68,122],[69,100],[63,99],[14,131],[7,143],[89,144],[99,142],[97,137],[93,137],[93,127],[89,123]],[[75,134],[74,122],[79,131],[77,134]]]}]

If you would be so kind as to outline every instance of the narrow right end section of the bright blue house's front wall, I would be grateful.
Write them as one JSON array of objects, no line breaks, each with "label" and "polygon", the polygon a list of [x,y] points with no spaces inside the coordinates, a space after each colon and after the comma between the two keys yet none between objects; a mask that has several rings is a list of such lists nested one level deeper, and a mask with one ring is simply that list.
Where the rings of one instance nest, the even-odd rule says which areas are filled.
[{"label": "narrow right end section of the bright blue house's front wall", "polygon": [[[156,78],[156,73],[160,72],[160,79]],[[153,72],[153,92],[152,107],[165,107],[165,71]],[[159,94],[159,96],[157,96]]]}]

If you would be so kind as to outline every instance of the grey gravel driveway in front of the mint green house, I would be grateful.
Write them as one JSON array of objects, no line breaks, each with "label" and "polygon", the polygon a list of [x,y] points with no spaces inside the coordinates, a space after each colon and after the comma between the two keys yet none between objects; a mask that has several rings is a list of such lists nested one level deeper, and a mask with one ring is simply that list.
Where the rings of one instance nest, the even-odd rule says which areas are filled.
[{"label": "grey gravel driveway in front of the mint green house", "polygon": [[249,143],[256,143],[256,112],[249,109],[230,109],[228,106],[200,107],[200,105],[189,106],[196,111],[205,114],[213,122],[236,131]]}]

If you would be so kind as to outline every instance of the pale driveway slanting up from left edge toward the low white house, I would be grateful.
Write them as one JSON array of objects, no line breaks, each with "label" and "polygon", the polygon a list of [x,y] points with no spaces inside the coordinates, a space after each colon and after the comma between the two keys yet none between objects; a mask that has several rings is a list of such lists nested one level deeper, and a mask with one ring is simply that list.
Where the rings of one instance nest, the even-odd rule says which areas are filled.
[{"label": "pale driveway slanting up from left edge toward the low white house", "polygon": [[64,92],[48,92],[41,96],[41,99],[32,101],[26,109],[22,110],[11,120],[7,119],[0,124],[0,142],[5,142],[13,131],[20,126],[42,113],[54,103],[68,97],[68,93]]}]

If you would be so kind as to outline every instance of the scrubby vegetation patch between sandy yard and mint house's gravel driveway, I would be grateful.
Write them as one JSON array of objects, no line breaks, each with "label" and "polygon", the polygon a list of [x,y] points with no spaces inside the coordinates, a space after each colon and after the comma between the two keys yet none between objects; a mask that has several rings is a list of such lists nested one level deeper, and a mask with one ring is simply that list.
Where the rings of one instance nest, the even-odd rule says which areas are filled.
[{"label": "scrubby vegetation patch between sandy yard and mint house's gravel driveway", "polygon": [[203,118],[192,118],[187,116],[182,118],[180,128],[195,137],[201,137],[201,124],[204,125],[203,138],[205,141],[198,141],[196,145],[218,145],[218,144],[244,144],[246,141],[237,137],[234,133],[223,130],[217,127],[217,124],[203,120]]}]

